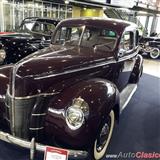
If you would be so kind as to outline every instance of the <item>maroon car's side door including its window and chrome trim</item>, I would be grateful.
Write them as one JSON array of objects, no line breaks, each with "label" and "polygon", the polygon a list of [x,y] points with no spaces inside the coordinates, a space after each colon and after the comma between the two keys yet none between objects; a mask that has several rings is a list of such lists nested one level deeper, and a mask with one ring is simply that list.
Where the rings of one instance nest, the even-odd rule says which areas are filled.
[{"label": "maroon car's side door including its window and chrome trim", "polygon": [[138,51],[138,31],[126,30],[119,44],[116,66],[117,86],[121,91],[127,84],[133,70]]}]

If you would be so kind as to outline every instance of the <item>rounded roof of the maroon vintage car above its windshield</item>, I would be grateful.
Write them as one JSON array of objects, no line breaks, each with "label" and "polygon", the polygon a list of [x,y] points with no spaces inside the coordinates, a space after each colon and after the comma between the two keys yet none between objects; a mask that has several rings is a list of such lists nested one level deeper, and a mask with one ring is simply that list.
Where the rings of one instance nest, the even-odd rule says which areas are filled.
[{"label": "rounded roof of the maroon vintage car above its windshield", "polygon": [[137,25],[119,19],[112,18],[70,18],[60,22],[60,26],[76,26],[76,25],[86,25],[86,26],[94,26],[99,28],[109,28],[116,31],[119,34],[125,30],[125,28],[137,28]]}]

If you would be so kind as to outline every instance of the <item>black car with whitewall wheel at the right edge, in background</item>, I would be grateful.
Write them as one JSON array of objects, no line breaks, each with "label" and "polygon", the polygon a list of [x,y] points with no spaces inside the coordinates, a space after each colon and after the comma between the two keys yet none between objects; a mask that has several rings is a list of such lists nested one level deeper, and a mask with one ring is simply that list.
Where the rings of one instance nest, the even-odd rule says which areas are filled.
[{"label": "black car with whitewall wheel at the right edge, in background", "polygon": [[141,37],[140,54],[147,55],[152,59],[157,59],[160,56],[160,37]]}]

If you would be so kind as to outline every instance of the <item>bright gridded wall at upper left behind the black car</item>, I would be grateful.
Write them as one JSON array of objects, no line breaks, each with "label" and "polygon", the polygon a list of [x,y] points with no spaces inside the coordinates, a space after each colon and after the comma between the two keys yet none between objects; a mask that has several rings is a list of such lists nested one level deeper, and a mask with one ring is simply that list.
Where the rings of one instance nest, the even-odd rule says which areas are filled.
[{"label": "bright gridded wall at upper left behind the black car", "polygon": [[52,2],[0,0],[0,31],[15,30],[26,17],[72,17],[72,6]]}]

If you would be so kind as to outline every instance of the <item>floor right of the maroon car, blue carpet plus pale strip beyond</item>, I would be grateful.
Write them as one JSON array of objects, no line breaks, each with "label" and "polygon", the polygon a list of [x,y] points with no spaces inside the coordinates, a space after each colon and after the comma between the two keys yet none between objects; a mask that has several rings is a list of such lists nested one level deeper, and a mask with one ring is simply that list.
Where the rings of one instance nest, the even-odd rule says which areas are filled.
[{"label": "floor right of the maroon car, blue carpet plus pale strip beyond", "polygon": [[[159,124],[160,61],[145,59],[138,89],[120,116],[103,160],[136,159],[136,153],[142,152],[160,154]],[[157,159],[160,160],[160,157]]]}]

